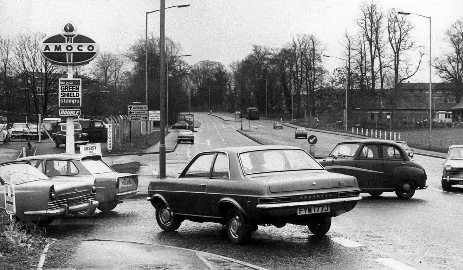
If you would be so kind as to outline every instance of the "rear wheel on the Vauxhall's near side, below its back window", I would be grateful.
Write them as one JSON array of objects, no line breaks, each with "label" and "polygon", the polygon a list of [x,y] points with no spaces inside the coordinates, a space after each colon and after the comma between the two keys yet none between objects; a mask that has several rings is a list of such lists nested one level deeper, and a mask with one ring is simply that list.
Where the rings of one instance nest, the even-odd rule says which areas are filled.
[{"label": "rear wheel on the Vauxhall's near side, below its back window", "polygon": [[233,244],[241,245],[250,238],[252,226],[246,221],[243,213],[236,208],[227,214],[227,234]]}]

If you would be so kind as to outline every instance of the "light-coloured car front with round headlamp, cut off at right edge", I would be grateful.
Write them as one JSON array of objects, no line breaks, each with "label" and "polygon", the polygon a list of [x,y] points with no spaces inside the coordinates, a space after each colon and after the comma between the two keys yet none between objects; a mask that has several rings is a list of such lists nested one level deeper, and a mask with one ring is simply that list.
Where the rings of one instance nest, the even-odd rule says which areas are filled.
[{"label": "light-coloured car front with round headlamp, cut off at right edge", "polygon": [[452,185],[463,184],[463,145],[451,145],[442,170],[442,189],[451,190]]}]

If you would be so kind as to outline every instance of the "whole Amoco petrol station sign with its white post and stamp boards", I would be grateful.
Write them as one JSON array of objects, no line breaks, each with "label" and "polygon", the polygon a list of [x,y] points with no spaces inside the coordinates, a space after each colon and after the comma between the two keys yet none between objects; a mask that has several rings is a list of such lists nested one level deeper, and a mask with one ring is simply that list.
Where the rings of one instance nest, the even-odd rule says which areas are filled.
[{"label": "whole Amoco petrol station sign with its white post and stamp boards", "polygon": [[[59,79],[58,84],[60,109],[80,108],[82,82],[81,79],[74,79],[74,69],[92,61],[98,55],[100,46],[93,39],[78,34],[75,25],[71,22],[65,24],[62,30],[62,33],[45,37],[41,41],[40,53],[52,64],[67,70],[68,78]],[[66,152],[68,153],[75,153],[74,116],[76,113],[76,110],[63,111],[66,116]]]}]

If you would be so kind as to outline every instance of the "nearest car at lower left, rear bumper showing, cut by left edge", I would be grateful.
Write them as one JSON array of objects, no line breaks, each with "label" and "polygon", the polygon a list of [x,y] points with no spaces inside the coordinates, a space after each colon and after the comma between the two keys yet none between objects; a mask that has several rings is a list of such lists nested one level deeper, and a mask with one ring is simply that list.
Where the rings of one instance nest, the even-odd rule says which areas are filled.
[{"label": "nearest car at lower left, rear bumper showing, cut by left edge", "polygon": [[13,201],[5,204],[5,181],[14,185],[18,221],[46,226],[58,216],[75,215],[98,206],[93,181],[51,179],[29,162],[13,161],[0,164],[0,207],[6,210],[13,210]]}]

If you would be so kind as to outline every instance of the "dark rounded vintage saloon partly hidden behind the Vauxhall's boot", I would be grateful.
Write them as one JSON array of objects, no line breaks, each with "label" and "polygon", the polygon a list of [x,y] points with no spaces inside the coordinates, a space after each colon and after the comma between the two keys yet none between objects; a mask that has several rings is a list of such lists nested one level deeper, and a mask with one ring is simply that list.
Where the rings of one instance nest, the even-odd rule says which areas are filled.
[{"label": "dark rounded vintage saloon partly hidden behind the Vauxhall's boot", "polygon": [[427,187],[423,166],[394,141],[343,141],[319,162],[330,172],[355,176],[360,190],[375,197],[395,191],[400,199],[410,199],[415,190]]}]

